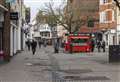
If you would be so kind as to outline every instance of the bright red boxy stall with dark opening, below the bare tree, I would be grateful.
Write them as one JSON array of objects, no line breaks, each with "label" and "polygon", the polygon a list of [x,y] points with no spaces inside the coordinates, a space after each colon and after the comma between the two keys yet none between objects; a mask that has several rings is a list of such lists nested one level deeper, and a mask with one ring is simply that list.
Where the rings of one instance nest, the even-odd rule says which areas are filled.
[{"label": "bright red boxy stall with dark opening, below the bare tree", "polygon": [[70,34],[67,36],[65,51],[68,52],[90,52],[91,36],[89,34]]}]

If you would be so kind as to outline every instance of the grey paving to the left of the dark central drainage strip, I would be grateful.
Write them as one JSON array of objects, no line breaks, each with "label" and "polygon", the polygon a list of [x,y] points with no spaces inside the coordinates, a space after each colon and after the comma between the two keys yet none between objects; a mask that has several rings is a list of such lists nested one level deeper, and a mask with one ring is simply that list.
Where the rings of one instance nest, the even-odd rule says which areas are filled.
[{"label": "grey paving to the left of the dark central drainage strip", "polygon": [[0,82],[50,82],[51,73],[43,71],[49,68],[44,65],[48,62],[49,58],[43,49],[37,49],[34,56],[25,50],[0,66]]}]

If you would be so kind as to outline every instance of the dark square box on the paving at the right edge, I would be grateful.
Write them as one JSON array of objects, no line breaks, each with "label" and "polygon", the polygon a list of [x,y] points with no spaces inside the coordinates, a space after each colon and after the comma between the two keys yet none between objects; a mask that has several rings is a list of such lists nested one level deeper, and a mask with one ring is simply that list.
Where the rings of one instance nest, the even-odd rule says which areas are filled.
[{"label": "dark square box on the paving at the right edge", "polygon": [[120,62],[120,45],[109,46],[109,62]]}]

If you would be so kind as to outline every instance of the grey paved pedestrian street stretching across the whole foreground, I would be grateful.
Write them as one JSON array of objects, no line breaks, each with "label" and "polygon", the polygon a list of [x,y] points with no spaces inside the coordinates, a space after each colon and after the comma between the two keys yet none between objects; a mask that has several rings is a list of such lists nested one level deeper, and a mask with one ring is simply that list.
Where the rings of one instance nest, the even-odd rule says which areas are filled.
[{"label": "grey paved pedestrian street stretching across the whole foreground", "polygon": [[120,63],[109,63],[108,53],[69,54],[60,49],[24,50],[0,65],[0,82],[120,82]]}]

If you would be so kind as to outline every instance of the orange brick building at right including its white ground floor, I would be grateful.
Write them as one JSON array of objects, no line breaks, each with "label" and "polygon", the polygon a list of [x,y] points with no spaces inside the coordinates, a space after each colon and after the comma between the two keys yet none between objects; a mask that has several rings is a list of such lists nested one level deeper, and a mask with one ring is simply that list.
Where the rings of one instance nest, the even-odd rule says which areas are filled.
[{"label": "orange brick building at right including its white ground floor", "polygon": [[100,29],[103,32],[103,40],[105,40],[107,47],[109,45],[116,45],[116,12],[113,0],[100,0]]}]

